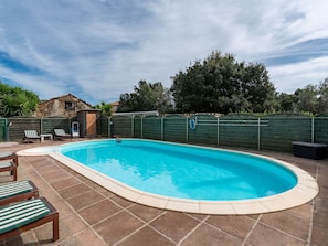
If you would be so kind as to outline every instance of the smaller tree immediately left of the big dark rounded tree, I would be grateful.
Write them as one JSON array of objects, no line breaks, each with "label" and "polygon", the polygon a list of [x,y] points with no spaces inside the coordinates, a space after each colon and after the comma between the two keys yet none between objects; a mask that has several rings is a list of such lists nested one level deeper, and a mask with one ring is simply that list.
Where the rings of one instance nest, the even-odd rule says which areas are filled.
[{"label": "smaller tree immediately left of the big dark rounded tree", "polygon": [[172,109],[170,90],[160,82],[151,84],[140,81],[134,90],[120,95],[117,111],[158,110],[162,115]]}]

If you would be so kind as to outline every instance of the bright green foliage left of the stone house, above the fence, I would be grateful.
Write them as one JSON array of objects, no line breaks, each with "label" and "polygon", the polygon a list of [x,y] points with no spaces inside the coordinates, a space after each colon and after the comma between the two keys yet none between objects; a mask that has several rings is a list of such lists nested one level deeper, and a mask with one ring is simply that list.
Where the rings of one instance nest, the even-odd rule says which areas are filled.
[{"label": "bright green foliage left of the stone house, above the fence", "polygon": [[36,94],[0,82],[0,116],[31,116],[40,99]]}]

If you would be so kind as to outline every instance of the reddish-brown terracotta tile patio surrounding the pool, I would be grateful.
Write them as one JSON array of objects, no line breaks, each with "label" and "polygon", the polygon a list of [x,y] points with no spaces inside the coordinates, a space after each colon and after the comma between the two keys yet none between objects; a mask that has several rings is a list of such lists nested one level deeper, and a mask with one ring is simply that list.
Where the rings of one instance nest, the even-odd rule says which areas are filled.
[{"label": "reddish-brown terracotta tile patio surrounding the pool", "polygon": [[[57,143],[62,142],[0,143],[0,151]],[[32,180],[60,212],[60,239],[52,243],[50,223],[0,245],[328,245],[328,160],[257,153],[309,172],[320,186],[318,196],[301,206],[268,214],[180,213],[124,200],[50,157],[19,157],[19,180]],[[8,173],[1,173],[0,182],[7,181]]]}]

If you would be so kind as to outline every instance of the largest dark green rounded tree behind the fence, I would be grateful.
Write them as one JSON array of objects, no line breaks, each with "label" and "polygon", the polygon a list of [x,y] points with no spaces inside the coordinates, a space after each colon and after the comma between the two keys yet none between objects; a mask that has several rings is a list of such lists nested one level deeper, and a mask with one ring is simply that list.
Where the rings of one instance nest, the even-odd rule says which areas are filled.
[{"label": "largest dark green rounded tree behind the fence", "polygon": [[262,64],[237,63],[213,52],[173,78],[171,90],[180,113],[274,110],[276,93]]}]

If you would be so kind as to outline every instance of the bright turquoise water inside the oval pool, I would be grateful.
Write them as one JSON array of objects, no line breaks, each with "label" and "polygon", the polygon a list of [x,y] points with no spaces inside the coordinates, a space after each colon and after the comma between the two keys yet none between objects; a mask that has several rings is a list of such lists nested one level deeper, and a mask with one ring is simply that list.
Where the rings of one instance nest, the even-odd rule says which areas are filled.
[{"label": "bright turquoise water inside the oval pool", "polygon": [[61,153],[135,189],[179,199],[258,199],[294,188],[296,175],[240,152],[124,139],[77,142]]}]

